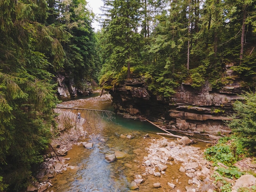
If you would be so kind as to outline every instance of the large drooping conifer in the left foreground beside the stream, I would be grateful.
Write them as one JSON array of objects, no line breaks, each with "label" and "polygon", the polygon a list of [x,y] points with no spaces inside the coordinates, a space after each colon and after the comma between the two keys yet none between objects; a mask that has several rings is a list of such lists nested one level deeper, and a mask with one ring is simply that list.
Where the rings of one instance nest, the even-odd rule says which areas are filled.
[{"label": "large drooping conifer in the left foreground beside the stream", "polygon": [[63,54],[56,28],[38,22],[46,19],[45,1],[3,0],[0,10],[0,189],[18,191],[43,160],[54,127],[56,85],[45,54],[60,50],[59,60]]}]

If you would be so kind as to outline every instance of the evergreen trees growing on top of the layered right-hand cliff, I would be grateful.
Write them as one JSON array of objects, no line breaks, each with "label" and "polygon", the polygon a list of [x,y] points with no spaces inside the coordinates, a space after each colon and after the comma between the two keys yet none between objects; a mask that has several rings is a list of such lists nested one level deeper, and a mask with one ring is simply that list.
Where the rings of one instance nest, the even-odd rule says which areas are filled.
[{"label": "evergreen trees growing on top of the layered right-hand cliff", "polygon": [[[131,66],[141,69],[140,75],[148,79],[154,94],[165,97],[175,93],[180,83],[200,89],[208,81],[219,89],[229,82],[224,70],[229,63],[234,64],[232,69],[239,77],[250,82],[245,86],[255,86],[254,1],[104,2],[107,19],[100,37],[102,74],[108,71],[111,76],[115,74],[111,78],[120,78],[118,74],[128,66],[127,58],[132,54]],[[129,67],[125,78],[129,78]],[[113,87],[110,84],[106,86]]]}]

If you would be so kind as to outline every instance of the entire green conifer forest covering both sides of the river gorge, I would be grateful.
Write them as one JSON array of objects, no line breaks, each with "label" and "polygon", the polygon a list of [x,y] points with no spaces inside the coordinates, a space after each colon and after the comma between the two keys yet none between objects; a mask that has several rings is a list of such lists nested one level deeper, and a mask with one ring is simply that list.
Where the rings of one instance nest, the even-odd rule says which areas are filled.
[{"label": "entire green conifer forest covering both sides of the river gorge", "polygon": [[86,0],[0,1],[0,191],[25,187],[43,161],[56,128],[58,74],[106,90],[139,76],[153,94],[171,97],[181,83],[220,88],[232,65],[231,78],[254,89],[255,1],[103,2],[97,18]]}]

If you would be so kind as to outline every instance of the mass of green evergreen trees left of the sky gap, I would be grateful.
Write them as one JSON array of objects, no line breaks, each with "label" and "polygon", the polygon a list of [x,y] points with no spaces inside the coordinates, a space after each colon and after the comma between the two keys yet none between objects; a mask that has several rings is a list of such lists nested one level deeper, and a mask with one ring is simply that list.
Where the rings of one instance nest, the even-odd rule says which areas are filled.
[{"label": "mass of green evergreen trees left of the sky gap", "polygon": [[55,127],[55,75],[97,80],[97,39],[86,4],[0,1],[0,191],[26,187],[31,167],[43,161]]}]

